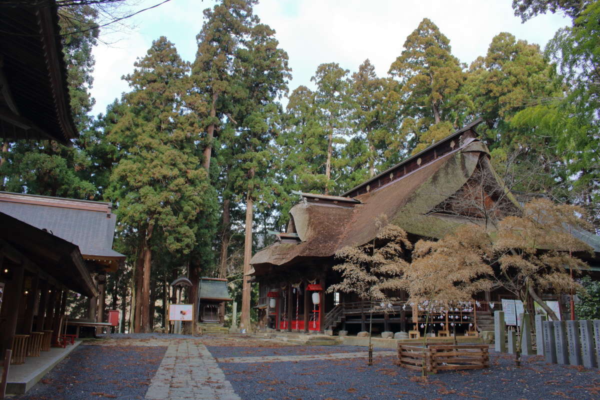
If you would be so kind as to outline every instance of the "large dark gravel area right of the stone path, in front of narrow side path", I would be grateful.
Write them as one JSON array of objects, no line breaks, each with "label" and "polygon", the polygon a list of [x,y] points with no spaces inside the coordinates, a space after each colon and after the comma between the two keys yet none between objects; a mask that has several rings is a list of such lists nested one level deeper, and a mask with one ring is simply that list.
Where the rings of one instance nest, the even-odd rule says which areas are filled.
[{"label": "large dark gravel area right of the stone path, in front of narrow side path", "polygon": [[220,363],[244,400],[351,399],[598,399],[600,371],[548,365],[541,357],[491,353],[491,368],[440,372],[424,383],[393,356],[277,363]]}]

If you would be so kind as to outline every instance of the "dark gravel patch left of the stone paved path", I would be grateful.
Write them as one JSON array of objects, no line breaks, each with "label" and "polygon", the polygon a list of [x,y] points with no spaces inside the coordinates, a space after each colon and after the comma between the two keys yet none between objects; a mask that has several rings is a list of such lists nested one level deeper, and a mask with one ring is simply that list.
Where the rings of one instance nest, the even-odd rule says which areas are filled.
[{"label": "dark gravel patch left of the stone paved path", "polygon": [[10,399],[143,399],[166,350],[158,346],[83,344],[26,395]]}]

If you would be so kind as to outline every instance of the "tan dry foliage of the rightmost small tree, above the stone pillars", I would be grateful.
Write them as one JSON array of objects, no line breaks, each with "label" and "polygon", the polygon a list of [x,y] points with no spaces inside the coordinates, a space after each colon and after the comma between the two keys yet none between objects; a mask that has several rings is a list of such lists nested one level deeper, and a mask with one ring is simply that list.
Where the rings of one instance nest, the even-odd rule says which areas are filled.
[{"label": "tan dry foliage of the rightmost small tree, above the stone pillars", "polygon": [[565,294],[580,289],[572,275],[587,264],[576,256],[592,251],[574,236],[592,229],[583,215],[581,207],[535,199],[523,206],[520,216],[507,216],[498,224],[494,252],[499,283],[523,305],[535,300],[553,320],[559,318],[538,291]]}]

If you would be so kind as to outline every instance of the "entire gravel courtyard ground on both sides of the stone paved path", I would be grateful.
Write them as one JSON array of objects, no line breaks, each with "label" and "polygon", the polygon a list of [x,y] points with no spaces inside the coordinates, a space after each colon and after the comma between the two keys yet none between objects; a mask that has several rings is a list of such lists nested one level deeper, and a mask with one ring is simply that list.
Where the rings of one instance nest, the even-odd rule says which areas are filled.
[{"label": "entire gravel courtyard ground on both sides of the stone paved path", "polygon": [[[182,345],[186,342],[187,345]],[[488,369],[440,372],[423,380],[419,372],[395,365],[395,356],[377,352],[373,366],[367,365],[366,357],[319,360],[297,357],[366,353],[365,347],[289,345],[243,335],[190,338],[160,333],[112,335],[110,340],[88,341],[27,395],[10,399],[143,399],[167,347],[173,346],[184,354],[188,354],[188,346],[206,346],[213,357],[226,359],[227,362],[218,363],[224,372],[219,379],[228,380],[242,400],[600,399],[600,369],[547,364],[541,356],[523,357],[522,366],[516,367],[514,356],[490,351]],[[261,362],[262,357],[268,356],[281,360]],[[286,356],[295,359],[286,360]],[[256,362],[235,362],[236,357],[256,357]],[[215,376],[214,368],[211,374]],[[214,379],[208,384],[215,384]],[[196,393],[191,389],[193,382],[186,382],[173,378],[167,384],[175,388],[173,393],[186,387],[190,387],[189,393]],[[193,394],[171,395],[164,400],[194,398]]]}]

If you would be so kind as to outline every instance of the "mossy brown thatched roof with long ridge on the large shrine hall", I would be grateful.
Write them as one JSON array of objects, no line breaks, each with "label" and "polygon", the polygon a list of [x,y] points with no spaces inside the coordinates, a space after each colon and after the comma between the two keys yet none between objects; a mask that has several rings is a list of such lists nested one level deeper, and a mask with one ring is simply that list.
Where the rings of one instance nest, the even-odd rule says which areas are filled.
[{"label": "mossy brown thatched roof with long ridge on the large shrine hall", "polygon": [[[442,237],[465,222],[432,210],[469,181],[482,157],[489,157],[486,146],[476,139],[475,125],[344,194],[359,203],[303,201],[293,206],[290,227],[298,233],[298,242],[276,242],[257,252],[250,261],[256,275],[269,266],[332,257],[344,246],[370,242],[378,233],[377,218],[421,237]],[[302,196],[306,200],[311,195]]]}]

